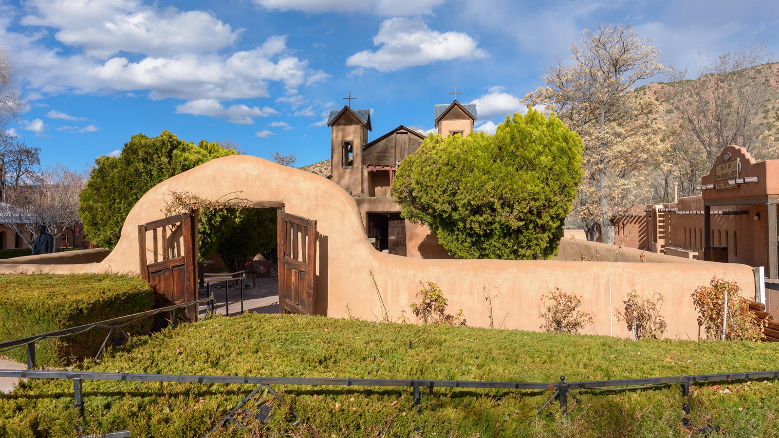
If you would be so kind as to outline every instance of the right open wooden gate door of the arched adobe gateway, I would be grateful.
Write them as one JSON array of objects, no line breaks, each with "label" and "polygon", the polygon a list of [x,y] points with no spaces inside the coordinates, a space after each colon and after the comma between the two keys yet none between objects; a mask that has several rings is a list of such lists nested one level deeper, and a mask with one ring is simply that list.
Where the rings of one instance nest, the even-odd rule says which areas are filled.
[{"label": "right open wooden gate door of the arched adobe gateway", "polygon": [[279,313],[314,314],[316,221],[278,212]]}]

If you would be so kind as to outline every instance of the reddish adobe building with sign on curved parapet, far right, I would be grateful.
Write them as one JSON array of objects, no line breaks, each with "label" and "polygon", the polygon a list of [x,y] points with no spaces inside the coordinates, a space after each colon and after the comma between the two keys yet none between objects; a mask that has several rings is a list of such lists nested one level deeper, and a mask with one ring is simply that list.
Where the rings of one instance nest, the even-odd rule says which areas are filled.
[{"label": "reddish adobe building with sign on curved parapet, far right", "polygon": [[615,244],[688,259],[763,267],[779,278],[779,160],[722,150],[697,187],[700,196],[631,207],[613,219]]}]

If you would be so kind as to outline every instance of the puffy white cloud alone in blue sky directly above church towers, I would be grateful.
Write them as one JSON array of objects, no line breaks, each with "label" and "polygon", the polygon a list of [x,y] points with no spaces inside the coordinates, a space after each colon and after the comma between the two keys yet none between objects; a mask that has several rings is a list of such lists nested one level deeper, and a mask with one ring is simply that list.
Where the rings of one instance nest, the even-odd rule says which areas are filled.
[{"label": "puffy white cloud alone in blue sky directly above church towers", "polygon": [[346,65],[390,72],[436,61],[487,56],[467,34],[431,30],[421,19],[386,19],[379,26],[379,34],[373,37],[373,44],[381,47],[351,55]]}]

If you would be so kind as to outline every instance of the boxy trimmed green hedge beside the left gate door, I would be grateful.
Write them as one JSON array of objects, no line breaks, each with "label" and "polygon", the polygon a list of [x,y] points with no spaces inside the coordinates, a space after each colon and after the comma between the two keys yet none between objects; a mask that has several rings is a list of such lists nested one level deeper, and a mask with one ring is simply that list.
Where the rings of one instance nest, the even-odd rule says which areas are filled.
[{"label": "boxy trimmed green hedge beside the left gate door", "polygon": [[[152,309],[153,291],[139,277],[117,274],[0,275],[0,341],[43,334]],[[124,327],[147,333],[150,320]],[[93,356],[108,329],[38,341],[37,365],[68,366]],[[3,353],[26,361],[26,348]]]}]

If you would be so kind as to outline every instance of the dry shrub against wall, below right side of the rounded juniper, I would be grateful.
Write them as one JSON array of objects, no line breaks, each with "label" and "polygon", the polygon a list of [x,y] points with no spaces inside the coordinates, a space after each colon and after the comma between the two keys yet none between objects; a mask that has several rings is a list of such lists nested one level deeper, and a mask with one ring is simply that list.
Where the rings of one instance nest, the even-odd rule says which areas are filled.
[{"label": "dry shrub against wall, below right side of the rounded juniper", "polygon": [[592,316],[576,310],[581,303],[576,294],[569,294],[560,288],[549,291],[548,295],[541,295],[541,306],[538,306],[538,316],[544,320],[541,329],[553,333],[578,333],[580,329],[591,325]]}]

